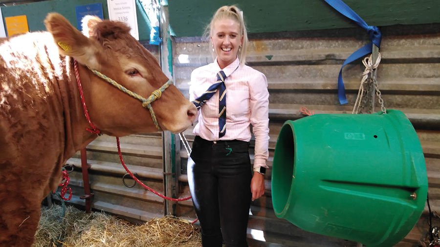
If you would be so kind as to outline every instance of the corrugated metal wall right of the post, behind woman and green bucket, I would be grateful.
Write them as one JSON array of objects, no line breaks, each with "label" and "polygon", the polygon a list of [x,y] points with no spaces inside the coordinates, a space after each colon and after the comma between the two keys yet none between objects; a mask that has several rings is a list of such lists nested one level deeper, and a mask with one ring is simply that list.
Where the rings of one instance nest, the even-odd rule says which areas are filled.
[{"label": "corrugated metal wall right of the post, behind woman and green bucket", "polygon": [[[426,156],[434,210],[440,207],[436,189],[440,185],[440,181],[436,182],[440,176],[440,34],[436,31],[439,27],[418,25],[382,29],[382,61],[377,72],[385,106],[403,111],[417,129]],[[263,72],[269,82],[268,166],[271,167],[280,128],[288,119],[304,117],[299,112],[301,106],[314,110],[315,114],[351,114],[364,67],[359,61],[344,69],[349,105],[338,103],[337,75],[344,59],[368,40],[363,31],[357,29],[271,33],[250,38],[248,64]],[[210,44],[201,42],[200,38],[176,39],[175,79],[184,95],[188,96],[191,71],[212,61],[209,50]],[[375,109],[380,111],[377,105]],[[185,131],[185,134],[193,140],[192,130]],[[253,153],[253,146],[250,151]],[[187,182],[184,167],[187,154],[183,149],[180,154],[180,180]],[[355,243],[302,231],[285,220],[277,219],[271,204],[270,177],[269,170],[265,176],[265,195],[252,203],[249,233],[263,230],[266,241],[286,246],[355,246]],[[184,187],[187,185],[184,184]],[[178,214],[194,217],[192,205],[181,205]],[[424,237],[420,232],[427,228],[426,221],[422,219],[417,229],[400,245],[417,243],[419,238]]]}]

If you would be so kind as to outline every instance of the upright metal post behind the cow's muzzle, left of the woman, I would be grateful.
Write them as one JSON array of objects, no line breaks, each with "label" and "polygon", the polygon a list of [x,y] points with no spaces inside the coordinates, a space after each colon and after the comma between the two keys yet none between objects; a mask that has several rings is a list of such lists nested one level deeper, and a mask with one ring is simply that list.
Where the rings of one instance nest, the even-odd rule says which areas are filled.
[{"label": "upright metal post behind the cow's muzzle, left of the woman", "polygon": [[[168,77],[173,77],[173,48],[170,37],[170,26],[168,18],[168,1],[160,1],[160,62],[162,71]],[[173,79],[174,82],[174,79]],[[180,167],[180,142],[176,141],[176,135],[164,131],[162,133],[163,144],[163,174],[164,193],[168,197],[177,198],[177,167]],[[176,202],[165,200],[165,215],[176,215]]]}]

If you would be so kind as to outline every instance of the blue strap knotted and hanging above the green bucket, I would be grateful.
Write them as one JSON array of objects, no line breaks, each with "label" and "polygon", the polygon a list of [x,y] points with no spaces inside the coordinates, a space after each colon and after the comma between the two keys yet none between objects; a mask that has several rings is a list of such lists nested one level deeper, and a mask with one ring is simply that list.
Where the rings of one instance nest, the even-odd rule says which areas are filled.
[{"label": "blue strap knotted and hanging above the green bucket", "polygon": [[333,7],[335,10],[337,10],[342,15],[352,19],[354,22],[356,22],[360,27],[367,30],[368,36],[370,36],[371,42],[364,47],[360,48],[359,50],[355,51],[348,57],[344,63],[342,64],[341,70],[339,71],[338,76],[338,98],[339,103],[341,105],[347,104],[347,96],[345,95],[345,87],[344,87],[344,81],[342,80],[342,69],[345,65],[351,63],[354,60],[359,59],[360,57],[364,57],[370,53],[372,53],[373,50],[373,44],[375,44],[378,48],[380,48],[380,41],[382,40],[382,34],[380,33],[380,30],[376,26],[369,26],[367,23],[360,18],[356,12],[354,12],[345,2],[342,0],[324,0],[326,1],[331,7]]}]

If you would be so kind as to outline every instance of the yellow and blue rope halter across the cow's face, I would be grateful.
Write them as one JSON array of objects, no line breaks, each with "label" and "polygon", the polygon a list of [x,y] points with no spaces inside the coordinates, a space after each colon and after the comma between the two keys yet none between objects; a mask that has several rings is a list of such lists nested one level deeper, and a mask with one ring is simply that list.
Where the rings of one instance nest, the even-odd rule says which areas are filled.
[{"label": "yellow and blue rope halter across the cow's face", "polygon": [[157,118],[156,115],[154,114],[154,110],[153,107],[151,106],[151,103],[153,103],[154,100],[160,98],[160,96],[162,96],[162,92],[165,91],[165,89],[167,89],[173,82],[171,79],[169,79],[165,84],[163,84],[159,89],[156,89],[153,91],[153,93],[148,97],[148,98],[144,98],[141,95],[138,95],[130,90],[128,90],[127,88],[125,88],[124,86],[122,86],[121,84],[117,83],[115,80],[111,79],[110,77],[103,75],[101,72],[94,70],[90,67],[87,66],[87,68],[93,72],[93,74],[95,74],[96,76],[101,77],[102,79],[106,80],[107,82],[109,82],[111,85],[113,85],[114,87],[118,88],[119,90],[121,90],[122,92],[132,96],[135,99],[138,99],[139,101],[142,102],[142,106],[144,108],[147,108],[148,110],[150,110],[150,114],[151,114],[151,118],[153,118],[153,122],[154,122],[154,126],[156,126],[157,130],[161,131],[162,129],[159,126],[159,123],[157,122]]}]

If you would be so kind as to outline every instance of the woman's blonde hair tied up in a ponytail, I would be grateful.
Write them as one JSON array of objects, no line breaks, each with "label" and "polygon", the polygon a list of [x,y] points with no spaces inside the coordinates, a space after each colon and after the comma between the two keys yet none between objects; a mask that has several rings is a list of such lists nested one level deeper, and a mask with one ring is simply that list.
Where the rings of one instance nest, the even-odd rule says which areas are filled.
[{"label": "woman's blonde hair tied up in a ponytail", "polygon": [[[220,19],[232,19],[240,24],[240,28],[242,29],[241,35],[243,37],[243,44],[242,44],[242,49],[240,49],[238,52],[238,57],[240,60],[240,65],[244,65],[244,63],[246,62],[246,53],[247,53],[246,48],[247,48],[248,39],[247,39],[246,25],[244,24],[243,11],[235,5],[231,5],[231,6],[225,5],[220,7],[212,17],[209,25],[206,26],[203,35],[203,37],[206,40],[210,39],[210,37],[212,36],[212,29],[214,27],[214,23]],[[216,57],[216,54],[214,52],[212,53],[212,55],[213,58]]]}]

